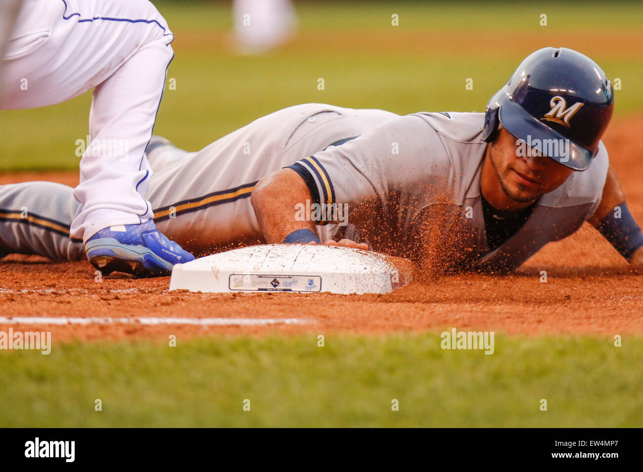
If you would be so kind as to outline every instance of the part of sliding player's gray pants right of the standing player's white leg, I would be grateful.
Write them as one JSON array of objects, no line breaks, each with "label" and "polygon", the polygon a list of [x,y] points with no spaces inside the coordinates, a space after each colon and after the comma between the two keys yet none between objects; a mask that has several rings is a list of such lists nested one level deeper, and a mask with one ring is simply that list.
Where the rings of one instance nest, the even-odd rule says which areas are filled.
[{"label": "part of sliding player's gray pants right of the standing player's white leg", "polygon": [[[147,195],[161,232],[199,254],[262,243],[250,202],[258,180],[398,115],[320,103],[258,118],[154,173]],[[156,165],[154,156],[150,165]],[[330,239],[337,227],[321,228]]]}]

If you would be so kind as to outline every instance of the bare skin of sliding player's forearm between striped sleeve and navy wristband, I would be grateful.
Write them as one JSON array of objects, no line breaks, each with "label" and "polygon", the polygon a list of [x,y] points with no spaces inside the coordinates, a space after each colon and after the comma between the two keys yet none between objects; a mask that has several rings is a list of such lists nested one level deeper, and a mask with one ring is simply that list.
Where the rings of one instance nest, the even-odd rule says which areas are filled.
[{"label": "bare skin of sliding player's forearm between striped sleeve and navy wristband", "polygon": [[311,200],[311,193],[298,173],[282,169],[259,180],[250,201],[267,243],[280,243],[298,229],[315,231],[312,221],[297,220],[295,205]]}]

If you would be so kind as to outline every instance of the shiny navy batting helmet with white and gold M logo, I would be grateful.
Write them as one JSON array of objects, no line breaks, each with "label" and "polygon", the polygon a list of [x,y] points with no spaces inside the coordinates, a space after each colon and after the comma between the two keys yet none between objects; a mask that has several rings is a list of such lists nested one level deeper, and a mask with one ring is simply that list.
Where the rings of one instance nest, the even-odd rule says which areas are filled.
[{"label": "shiny navy batting helmet with white and gold M logo", "polygon": [[[614,109],[611,83],[593,60],[566,48],[532,53],[489,103],[482,137],[490,143],[498,122],[516,138],[574,170],[585,170]],[[551,144],[565,150],[551,152]],[[549,152],[547,150],[550,150]]]}]

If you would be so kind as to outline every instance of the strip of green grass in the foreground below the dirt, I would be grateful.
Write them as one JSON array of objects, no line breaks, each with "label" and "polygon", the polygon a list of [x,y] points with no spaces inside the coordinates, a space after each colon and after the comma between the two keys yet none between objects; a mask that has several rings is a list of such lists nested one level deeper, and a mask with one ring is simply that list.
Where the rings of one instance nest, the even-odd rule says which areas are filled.
[{"label": "strip of green grass in the foreground below the dirt", "polygon": [[642,358],[640,337],[54,340],[0,351],[0,426],[640,426]]}]

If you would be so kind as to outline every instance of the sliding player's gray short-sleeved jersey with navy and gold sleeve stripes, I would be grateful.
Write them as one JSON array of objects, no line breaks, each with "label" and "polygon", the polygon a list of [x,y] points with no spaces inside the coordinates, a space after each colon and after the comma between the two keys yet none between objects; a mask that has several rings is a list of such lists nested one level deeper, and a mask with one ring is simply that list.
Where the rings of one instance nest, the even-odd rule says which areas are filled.
[{"label": "sliding player's gray short-sleeved jersey with navy and gold sleeve stripes", "polygon": [[572,173],[539,198],[527,222],[490,250],[480,195],[487,146],[480,137],[483,124],[482,113],[403,116],[293,168],[320,204],[348,205],[348,238],[409,256],[417,238],[428,237],[421,234],[422,224],[434,220],[439,231],[430,232],[436,248],[431,255],[446,267],[513,269],[592,216],[601,201],[608,155],[600,143],[588,170]]}]

